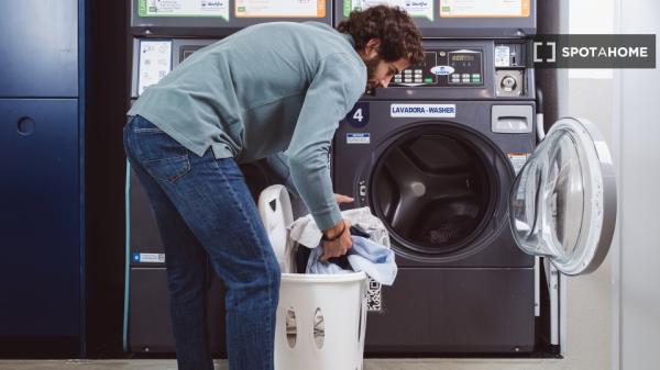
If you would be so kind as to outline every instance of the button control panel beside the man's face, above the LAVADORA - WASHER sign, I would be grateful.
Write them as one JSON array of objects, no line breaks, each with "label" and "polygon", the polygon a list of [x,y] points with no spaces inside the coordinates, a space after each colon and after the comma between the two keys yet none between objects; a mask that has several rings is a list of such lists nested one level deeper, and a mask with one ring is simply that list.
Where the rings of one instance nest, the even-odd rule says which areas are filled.
[{"label": "button control panel beside the man's face, above the LAVADORA - WASHER sign", "polygon": [[484,85],[482,48],[428,49],[420,64],[394,76],[394,85],[417,87],[481,87]]}]

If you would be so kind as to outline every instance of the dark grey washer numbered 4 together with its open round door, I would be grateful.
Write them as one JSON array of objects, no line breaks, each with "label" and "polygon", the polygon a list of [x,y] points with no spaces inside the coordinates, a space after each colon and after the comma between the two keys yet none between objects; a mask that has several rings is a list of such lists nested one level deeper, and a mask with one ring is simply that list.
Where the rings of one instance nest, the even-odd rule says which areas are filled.
[{"label": "dark grey washer numbered 4 together with its open round door", "polygon": [[429,40],[425,51],[355,104],[333,143],[336,192],[384,222],[399,267],[393,287],[370,287],[365,352],[530,352],[535,260],[576,276],[607,255],[612,157],[584,119],[537,131],[524,40]]}]

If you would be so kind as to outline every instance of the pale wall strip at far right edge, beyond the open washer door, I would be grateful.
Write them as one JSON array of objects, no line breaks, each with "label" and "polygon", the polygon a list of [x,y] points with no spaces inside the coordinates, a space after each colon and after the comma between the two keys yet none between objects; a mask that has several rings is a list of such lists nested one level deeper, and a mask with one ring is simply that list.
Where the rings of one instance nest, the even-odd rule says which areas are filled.
[{"label": "pale wall strip at far right edge, beyond the open washer door", "polygon": [[[619,0],[622,33],[660,34],[660,2]],[[658,49],[658,45],[656,45]],[[618,137],[619,222],[615,279],[622,370],[660,363],[660,71],[615,75],[620,102]]]}]

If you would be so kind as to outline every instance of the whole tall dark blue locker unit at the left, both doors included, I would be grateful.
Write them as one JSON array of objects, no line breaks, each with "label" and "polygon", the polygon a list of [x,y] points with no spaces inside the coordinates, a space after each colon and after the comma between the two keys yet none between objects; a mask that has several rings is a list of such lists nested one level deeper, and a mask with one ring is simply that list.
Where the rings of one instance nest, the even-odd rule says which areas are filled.
[{"label": "whole tall dark blue locker unit at the left, both doors included", "polygon": [[0,345],[85,354],[84,0],[0,1]]}]

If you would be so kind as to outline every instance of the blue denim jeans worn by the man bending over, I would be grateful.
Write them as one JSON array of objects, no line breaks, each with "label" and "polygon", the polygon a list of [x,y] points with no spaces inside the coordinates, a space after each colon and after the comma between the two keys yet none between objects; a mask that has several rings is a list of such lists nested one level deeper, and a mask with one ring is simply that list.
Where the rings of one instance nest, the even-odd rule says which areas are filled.
[{"label": "blue denim jeans worn by the man bending over", "polygon": [[208,258],[227,285],[229,368],[273,370],[279,265],[235,161],[199,157],[139,115],[124,127],[124,148],[165,246],[178,368],[213,368]]}]

